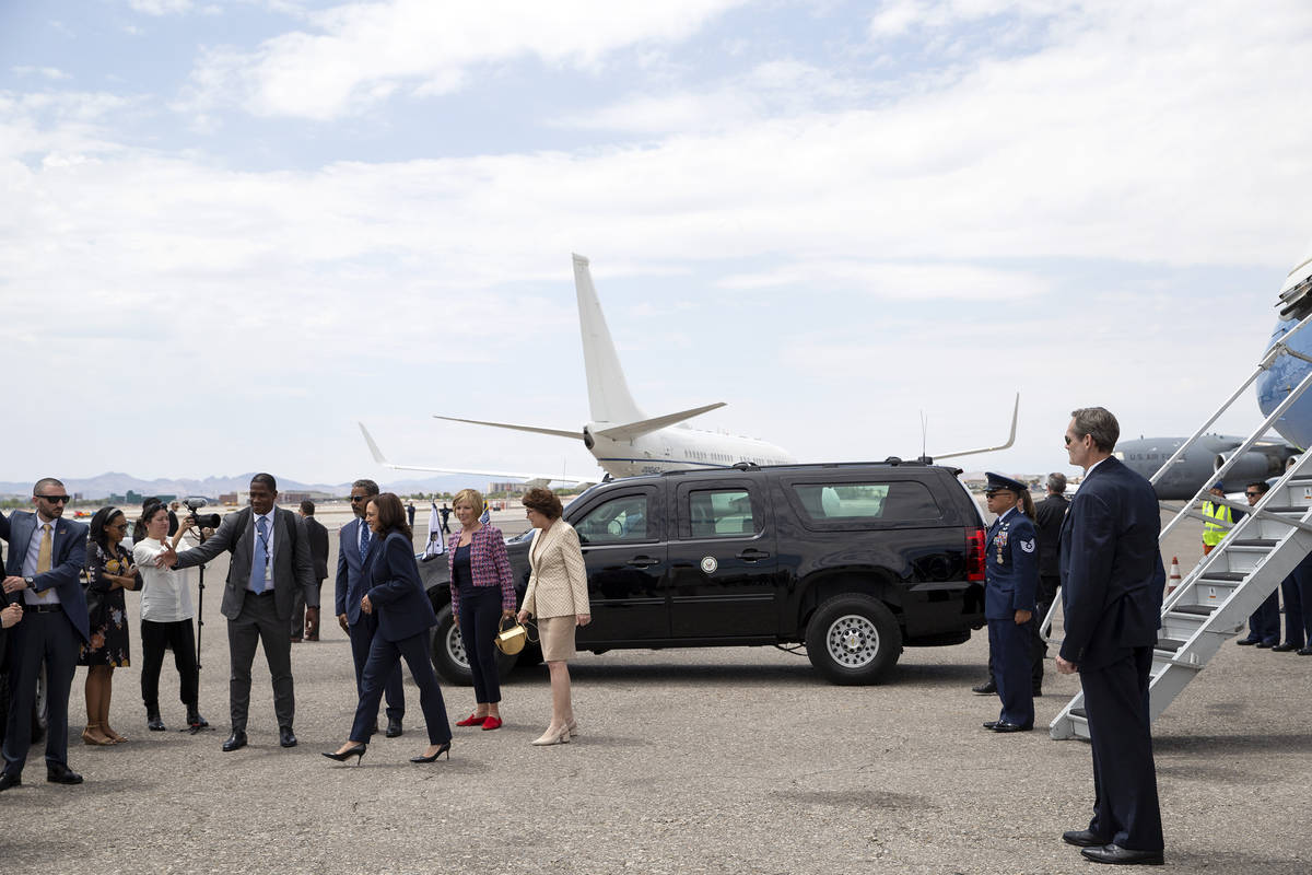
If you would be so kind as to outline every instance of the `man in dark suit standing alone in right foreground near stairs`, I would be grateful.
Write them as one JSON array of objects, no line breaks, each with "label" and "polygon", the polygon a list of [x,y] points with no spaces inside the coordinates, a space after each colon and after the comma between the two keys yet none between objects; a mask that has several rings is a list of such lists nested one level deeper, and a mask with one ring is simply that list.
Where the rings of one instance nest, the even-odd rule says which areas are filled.
[{"label": "man in dark suit standing alone in right foreground near stairs", "polygon": [[1085,470],[1061,526],[1065,639],[1057,672],[1080,673],[1093,748],[1088,829],[1061,836],[1099,863],[1162,863],[1148,682],[1166,572],[1157,496],[1111,450],[1120,425],[1101,407],[1072,412],[1065,443]]}]

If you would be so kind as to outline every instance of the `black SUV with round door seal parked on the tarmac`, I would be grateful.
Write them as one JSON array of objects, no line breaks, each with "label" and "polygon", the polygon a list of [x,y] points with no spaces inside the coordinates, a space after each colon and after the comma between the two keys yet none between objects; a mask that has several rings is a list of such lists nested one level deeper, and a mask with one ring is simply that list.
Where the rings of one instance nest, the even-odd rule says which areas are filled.
[{"label": "black SUV with round door seal parked on the tarmac", "polygon": [[[806,644],[834,683],[876,683],[904,645],[984,624],[984,521],[956,468],[918,462],[740,463],[601,483],[564,518],[588,563],[579,649]],[[533,530],[506,542],[516,588]],[[433,664],[470,683],[446,556],[420,565]],[[499,655],[500,668],[542,656]]]}]

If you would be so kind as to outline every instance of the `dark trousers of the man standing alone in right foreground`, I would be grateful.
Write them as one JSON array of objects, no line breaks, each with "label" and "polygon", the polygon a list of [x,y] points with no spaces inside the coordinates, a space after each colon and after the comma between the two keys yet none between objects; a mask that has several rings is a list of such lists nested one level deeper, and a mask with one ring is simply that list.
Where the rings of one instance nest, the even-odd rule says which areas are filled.
[{"label": "dark trousers of the man standing alone in right foreground", "polygon": [[1089,829],[1131,850],[1161,850],[1161,807],[1152,760],[1148,674],[1152,647],[1124,648],[1101,668],[1080,669],[1093,748]]}]

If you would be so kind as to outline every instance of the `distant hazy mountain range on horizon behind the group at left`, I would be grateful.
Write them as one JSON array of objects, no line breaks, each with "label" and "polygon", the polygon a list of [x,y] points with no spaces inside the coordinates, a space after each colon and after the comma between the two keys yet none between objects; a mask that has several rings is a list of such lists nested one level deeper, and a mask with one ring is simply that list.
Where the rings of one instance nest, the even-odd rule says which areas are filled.
[{"label": "distant hazy mountain range on horizon behind the group at left", "polygon": [[[223,478],[205,478],[194,480],[177,478],[173,480],[159,478],[156,480],[142,480],[130,474],[106,471],[94,478],[64,478],[64,487],[70,493],[81,495],[84,499],[104,499],[112,495],[127,495],[131,489],[139,495],[176,495],[176,496],[205,496],[215,499],[223,492],[243,492],[251,485],[249,474],[235,474]],[[416,492],[455,492],[466,487],[483,491],[488,485],[487,478],[475,478],[461,474],[428,478],[425,480],[386,480],[379,481],[384,492],[398,495],[411,495]],[[327,492],[333,496],[350,493],[350,481],[345,483],[300,483],[298,480],[278,480],[279,492]],[[25,497],[31,495],[31,483],[10,483],[0,480],[0,496]]]}]

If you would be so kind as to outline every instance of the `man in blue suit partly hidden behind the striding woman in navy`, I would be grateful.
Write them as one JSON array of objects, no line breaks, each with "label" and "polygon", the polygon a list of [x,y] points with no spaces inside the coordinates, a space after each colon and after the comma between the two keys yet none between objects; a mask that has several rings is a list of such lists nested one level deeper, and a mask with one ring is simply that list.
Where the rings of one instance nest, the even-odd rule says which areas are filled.
[{"label": "man in blue suit partly hidden behind the striding woman in navy", "polygon": [[[359,609],[359,600],[369,592],[369,555],[373,533],[365,523],[365,508],[369,500],[378,495],[378,484],[373,480],[356,480],[350,484],[350,509],[356,518],[341,527],[337,543],[337,623],[350,636],[350,655],[356,661],[356,694],[363,694],[365,662],[369,661],[369,647],[378,631],[378,615],[366,614]],[[383,686],[387,697],[387,737],[401,733],[401,718],[405,716],[405,693],[401,687],[401,665],[398,662],[387,683]],[[375,724],[377,724],[377,715]],[[377,731],[377,729],[375,729]]]}]

